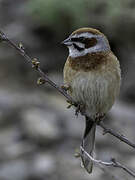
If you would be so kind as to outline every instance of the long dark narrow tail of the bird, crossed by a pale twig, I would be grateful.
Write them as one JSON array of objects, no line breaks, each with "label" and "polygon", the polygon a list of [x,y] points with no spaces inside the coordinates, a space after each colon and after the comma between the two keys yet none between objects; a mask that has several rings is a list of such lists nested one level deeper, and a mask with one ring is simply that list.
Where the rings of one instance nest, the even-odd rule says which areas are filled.
[{"label": "long dark narrow tail of the bird, crossed by a pale twig", "polygon": [[[82,147],[84,151],[93,156],[94,142],[95,142],[96,123],[90,118],[86,117],[86,127],[82,140]],[[82,151],[82,163],[88,173],[92,172],[93,162]]]}]

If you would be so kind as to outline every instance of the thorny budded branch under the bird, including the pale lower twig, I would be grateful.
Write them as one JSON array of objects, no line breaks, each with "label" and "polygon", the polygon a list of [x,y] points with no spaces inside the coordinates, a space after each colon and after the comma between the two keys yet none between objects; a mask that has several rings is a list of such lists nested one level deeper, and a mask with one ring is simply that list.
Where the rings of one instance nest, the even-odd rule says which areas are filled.
[{"label": "thorny budded branch under the bird, including the pale lower twig", "polygon": [[[19,45],[16,45],[12,40],[10,40],[6,34],[4,32],[2,32],[0,30],[0,42],[7,42],[12,48],[14,48],[16,51],[18,51],[18,53],[28,62],[32,65],[32,68],[35,69],[38,74],[40,75],[40,78],[38,79],[37,83],[38,84],[44,84],[44,83],[48,83],[49,85],[51,85],[52,87],[54,87],[57,91],[59,91],[63,96],[66,97],[67,102],[69,102],[71,105],[78,107],[78,104],[75,103],[72,99],[72,97],[70,95],[67,94],[67,92],[65,91],[64,88],[59,87],[56,83],[54,83],[40,68],[40,62],[38,62],[38,60],[36,58],[32,58],[31,56],[29,56],[23,45],[21,43],[19,43]],[[81,113],[81,112],[80,112]],[[81,113],[82,114],[82,113]],[[85,116],[85,113],[82,114],[83,116]],[[130,142],[125,136],[117,133],[116,131],[106,127],[103,122],[98,122],[97,123],[98,126],[100,126],[103,131],[104,134],[109,133],[111,135],[113,135],[114,137],[116,137],[117,139],[119,139],[120,141],[123,141],[124,143],[128,144],[130,147],[135,149],[135,144]],[[115,159],[112,159],[110,162],[103,162],[101,160],[96,160],[94,159],[92,156],[90,156],[81,146],[81,151],[83,151],[90,160],[92,160],[95,163],[98,164],[102,164],[105,166],[113,166],[113,167],[117,167],[117,168],[121,168],[123,169],[125,172],[127,172],[128,174],[130,174],[132,177],[135,178],[135,173],[133,171],[131,171],[129,168],[123,166],[122,164],[120,164],[119,162],[117,162]]]}]

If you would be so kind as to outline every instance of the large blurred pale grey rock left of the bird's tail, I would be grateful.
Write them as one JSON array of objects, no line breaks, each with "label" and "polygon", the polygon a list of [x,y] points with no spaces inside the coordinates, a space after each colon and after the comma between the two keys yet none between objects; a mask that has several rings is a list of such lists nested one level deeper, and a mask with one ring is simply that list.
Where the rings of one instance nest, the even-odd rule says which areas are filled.
[{"label": "large blurred pale grey rock left of the bird's tail", "polygon": [[22,113],[26,134],[39,142],[51,143],[61,138],[57,116],[53,112],[32,108]]}]

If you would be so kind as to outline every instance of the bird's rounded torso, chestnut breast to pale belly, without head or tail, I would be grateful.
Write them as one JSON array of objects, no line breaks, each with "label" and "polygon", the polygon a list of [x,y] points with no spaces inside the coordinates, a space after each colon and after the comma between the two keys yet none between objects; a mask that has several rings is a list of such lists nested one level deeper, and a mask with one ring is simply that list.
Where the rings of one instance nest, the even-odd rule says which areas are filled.
[{"label": "bird's rounded torso, chestnut breast to pale belly, without head or tail", "polygon": [[68,57],[64,83],[71,87],[72,98],[86,106],[88,115],[106,113],[119,93],[119,62],[111,51],[74,59]]}]

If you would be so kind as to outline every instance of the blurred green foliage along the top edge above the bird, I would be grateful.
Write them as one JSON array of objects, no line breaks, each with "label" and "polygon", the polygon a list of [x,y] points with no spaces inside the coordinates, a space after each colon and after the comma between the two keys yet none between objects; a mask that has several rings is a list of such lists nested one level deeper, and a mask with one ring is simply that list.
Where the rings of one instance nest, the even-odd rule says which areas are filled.
[{"label": "blurred green foliage along the top edge above the bird", "polygon": [[135,18],[134,0],[30,0],[28,8],[34,18],[55,31],[89,24],[112,25],[122,15]]}]

